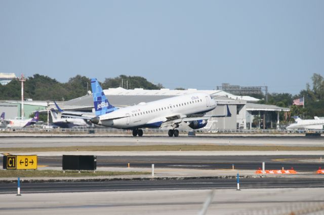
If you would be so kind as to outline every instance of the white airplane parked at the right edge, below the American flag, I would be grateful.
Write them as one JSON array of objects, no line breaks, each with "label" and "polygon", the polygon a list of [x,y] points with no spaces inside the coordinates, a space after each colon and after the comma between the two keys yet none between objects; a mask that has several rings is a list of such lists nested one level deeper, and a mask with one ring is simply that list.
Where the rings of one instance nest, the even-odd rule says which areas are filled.
[{"label": "white airplane parked at the right edge, below the American flag", "polygon": [[313,120],[302,120],[299,117],[295,119],[295,123],[287,126],[287,130],[294,129],[309,129],[309,130],[320,130],[323,129],[324,119],[314,117]]}]

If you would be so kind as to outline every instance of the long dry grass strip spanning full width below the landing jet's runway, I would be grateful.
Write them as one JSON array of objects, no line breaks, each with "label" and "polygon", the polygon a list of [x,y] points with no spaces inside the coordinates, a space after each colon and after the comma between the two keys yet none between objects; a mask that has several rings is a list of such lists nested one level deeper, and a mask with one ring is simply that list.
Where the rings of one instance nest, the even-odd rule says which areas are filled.
[{"label": "long dry grass strip spanning full width below the landing jet's runway", "polygon": [[247,145],[131,145],[0,148],[1,152],[42,151],[320,151],[322,146],[247,146]]}]

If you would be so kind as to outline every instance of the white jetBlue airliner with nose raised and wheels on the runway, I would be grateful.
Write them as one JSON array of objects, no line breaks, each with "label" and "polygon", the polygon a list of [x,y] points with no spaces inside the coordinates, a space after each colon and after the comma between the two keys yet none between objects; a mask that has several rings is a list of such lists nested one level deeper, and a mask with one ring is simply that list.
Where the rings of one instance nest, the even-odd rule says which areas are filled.
[{"label": "white jetBlue airliner with nose raised and wheels on the runway", "polygon": [[[142,136],[141,128],[170,128],[170,137],[179,136],[176,129],[180,123],[186,123],[192,129],[203,128],[211,117],[205,116],[216,108],[215,100],[207,93],[197,92],[188,95],[175,96],[151,102],[141,102],[127,108],[117,109],[106,98],[97,79],[91,79],[92,94],[94,99],[95,115],[84,112],[62,112],[62,116],[88,119],[93,124],[106,127],[133,130],[133,136]],[[57,106],[59,109],[59,107]]]}]

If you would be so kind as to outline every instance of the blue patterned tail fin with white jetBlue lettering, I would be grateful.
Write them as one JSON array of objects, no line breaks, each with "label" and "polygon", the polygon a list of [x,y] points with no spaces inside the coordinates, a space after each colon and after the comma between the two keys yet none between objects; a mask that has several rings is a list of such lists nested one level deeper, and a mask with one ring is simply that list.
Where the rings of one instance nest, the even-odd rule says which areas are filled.
[{"label": "blue patterned tail fin with white jetBlue lettering", "polygon": [[96,116],[108,114],[116,110],[116,108],[109,103],[96,78],[91,79],[91,88]]}]

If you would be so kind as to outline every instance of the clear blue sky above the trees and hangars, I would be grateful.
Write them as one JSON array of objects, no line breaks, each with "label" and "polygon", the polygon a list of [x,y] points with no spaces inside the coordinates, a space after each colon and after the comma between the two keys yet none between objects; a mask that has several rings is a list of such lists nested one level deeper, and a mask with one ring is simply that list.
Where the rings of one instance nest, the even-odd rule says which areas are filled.
[{"label": "clear blue sky above the trees and hangars", "polygon": [[0,0],[0,72],[297,94],[323,69],[321,0]]}]

